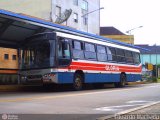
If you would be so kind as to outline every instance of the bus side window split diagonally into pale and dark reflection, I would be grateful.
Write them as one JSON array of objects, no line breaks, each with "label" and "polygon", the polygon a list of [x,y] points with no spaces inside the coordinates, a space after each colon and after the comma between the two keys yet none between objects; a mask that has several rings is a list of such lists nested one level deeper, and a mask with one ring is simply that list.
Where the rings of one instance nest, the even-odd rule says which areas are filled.
[{"label": "bus side window split diagonally into pale and dark reflection", "polygon": [[108,61],[116,62],[117,61],[117,57],[116,57],[115,48],[107,47],[107,56],[108,56]]}]

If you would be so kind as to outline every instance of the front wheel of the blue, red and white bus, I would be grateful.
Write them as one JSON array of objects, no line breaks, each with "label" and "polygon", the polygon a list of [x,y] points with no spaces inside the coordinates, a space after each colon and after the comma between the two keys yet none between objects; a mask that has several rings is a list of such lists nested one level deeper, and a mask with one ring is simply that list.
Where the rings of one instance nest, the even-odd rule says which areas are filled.
[{"label": "front wheel of the blue, red and white bus", "polygon": [[73,81],[74,90],[81,90],[83,87],[83,79],[80,74],[75,74]]}]

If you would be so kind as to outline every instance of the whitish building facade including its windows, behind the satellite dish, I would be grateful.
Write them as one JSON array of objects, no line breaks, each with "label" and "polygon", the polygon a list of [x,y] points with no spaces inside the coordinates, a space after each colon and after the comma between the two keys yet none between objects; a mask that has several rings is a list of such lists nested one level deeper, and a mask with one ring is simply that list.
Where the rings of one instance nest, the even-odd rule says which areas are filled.
[{"label": "whitish building facade including its windows, behind the satellite dish", "polygon": [[[99,35],[99,8],[100,0],[52,0],[52,21],[56,21],[66,9],[71,9],[72,14],[63,25]],[[94,10],[97,11],[90,13]]]}]

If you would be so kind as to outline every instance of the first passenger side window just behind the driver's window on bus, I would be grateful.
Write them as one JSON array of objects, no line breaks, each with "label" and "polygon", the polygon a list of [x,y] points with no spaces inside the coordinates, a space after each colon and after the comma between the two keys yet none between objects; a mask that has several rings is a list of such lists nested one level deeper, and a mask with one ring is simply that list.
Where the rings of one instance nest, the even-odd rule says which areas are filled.
[{"label": "first passenger side window just behind the driver's window on bus", "polygon": [[84,59],[83,43],[80,41],[72,41],[73,58]]}]

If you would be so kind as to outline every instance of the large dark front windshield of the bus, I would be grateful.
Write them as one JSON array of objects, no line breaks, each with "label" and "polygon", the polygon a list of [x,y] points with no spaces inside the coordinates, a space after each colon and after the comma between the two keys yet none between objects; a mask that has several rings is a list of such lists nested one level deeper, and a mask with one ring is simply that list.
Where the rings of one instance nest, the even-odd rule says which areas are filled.
[{"label": "large dark front windshield of the bus", "polygon": [[31,42],[21,50],[21,69],[49,68],[55,65],[54,40]]}]

